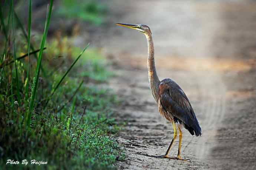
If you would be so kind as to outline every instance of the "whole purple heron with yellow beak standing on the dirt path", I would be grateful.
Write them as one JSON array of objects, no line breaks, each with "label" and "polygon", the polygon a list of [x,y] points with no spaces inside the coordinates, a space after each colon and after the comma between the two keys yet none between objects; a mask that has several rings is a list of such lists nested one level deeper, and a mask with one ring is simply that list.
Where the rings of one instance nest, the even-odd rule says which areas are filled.
[{"label": "whole purple heron with yellow beak standing on the dirt path", "polygon": [[[148,79],[149,86],[155,102],[158,105],[160,115],[170,121],[173,125],[174,135],[171,143],[164,155],[152,156],[155,158],[166,158],[173,160],[190,160],[181,158],[181,128],[185,128],[191,135],[201,136],[201,127],[196,118],[195,112],[188,100],[185,92],[180,86],[170,78],[159,80],[154,58],[154,43],[152,40],[152,32],[147,25],[144,24],[122,24],[116,23],[117,26],[127,27],[143,33],[147,39],[148,46]],[[179,132],[179,144],[177,157],[168,156],[171,147],[177,137],[177,127]],[[146,154],[147,155],[147,154]],[[150,155],[147,155],[150,156]]]}]

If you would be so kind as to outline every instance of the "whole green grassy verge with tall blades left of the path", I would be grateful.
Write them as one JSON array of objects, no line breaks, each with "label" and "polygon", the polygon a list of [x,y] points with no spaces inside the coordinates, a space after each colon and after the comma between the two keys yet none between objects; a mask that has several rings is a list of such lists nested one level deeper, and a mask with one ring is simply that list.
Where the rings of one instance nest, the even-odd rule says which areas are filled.
[{"label": "whole green grassy verge with tall blades left of the path", "polygon": [[[112,76],[106,60],[96,49],[74,47],[68,37],[46,41],[52,0],[41,40],[31,37],[30,2],[23,37],[16,32],[26,24],[16,24],[13,1],[0,7],[0,34],[10,35],[0,46],[1,169],[115,169],[124,155],[113,137],[120,126],[112,108],[119,100],[98,86]],[[29,57],[33,46],[40,46],[36,59]],[[8,159],[20,164],[6,165]],[[24,159],[47,165],[25,166]]]}]

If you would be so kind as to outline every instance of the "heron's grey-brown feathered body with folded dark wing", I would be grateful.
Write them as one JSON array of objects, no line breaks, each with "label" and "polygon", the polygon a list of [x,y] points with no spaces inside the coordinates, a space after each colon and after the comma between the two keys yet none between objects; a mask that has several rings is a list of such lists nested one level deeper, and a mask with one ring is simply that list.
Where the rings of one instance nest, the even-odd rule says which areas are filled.
[{"label": "heron's grey-brown feathered body with folded dark wing", "polygon": [[191,135],[201,135],[194,110],[180,86],[172,79],[163,79],[159,85],[158,109],[167,120],[179,123]]}]

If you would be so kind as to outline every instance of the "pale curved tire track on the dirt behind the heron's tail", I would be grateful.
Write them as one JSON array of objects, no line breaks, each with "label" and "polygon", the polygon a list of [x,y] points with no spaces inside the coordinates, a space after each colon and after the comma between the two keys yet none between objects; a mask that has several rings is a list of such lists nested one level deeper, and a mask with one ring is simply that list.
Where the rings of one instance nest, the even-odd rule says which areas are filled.
[{"label": "pale curved tire track on the dirt behind the heron's tail", "polygon": [[[208,74],[209,78],[204,79],[205,82],[210,82],[206,85],[201,82],[200,88],[203,91],[204,108],[202,114],[204,114],[204,119],[201,121],[201,126],[203,130],[203,135],[200,138],[193,138],[196,140],[196,145],[194,152],[197,157],[202,160],[208,160],[209,154],[211,153],[211,148],[216,145],[216,140],[214,139],[217,133],[217,127],[220,126],[223,116],[226,112],[225,109],[225,93],[226,88],[216,73]],[[198,82],[200,82],[198,80]],[[207,134],[208,133],[208,134]]]}]

